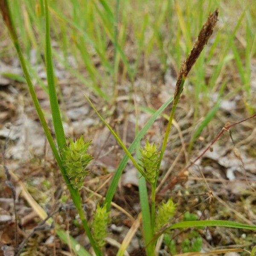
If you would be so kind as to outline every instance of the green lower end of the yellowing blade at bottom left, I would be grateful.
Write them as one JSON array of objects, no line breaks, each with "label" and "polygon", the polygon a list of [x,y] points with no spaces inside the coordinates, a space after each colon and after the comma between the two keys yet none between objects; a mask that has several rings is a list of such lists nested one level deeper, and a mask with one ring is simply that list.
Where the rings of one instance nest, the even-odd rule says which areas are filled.
[{"label": "green lower end of the yellowing blade at bottom left", "polygon": [[91,256],[90,253],[87,252],[87,250],[84,249],[84,247],[79,244],[76,239],[74,239],[72,236],[69,236],[66,231],[62,229],[56,229],[56,234],[58,237],[67,245],[70,244],[72,250],[76,255],[78,256]]}]

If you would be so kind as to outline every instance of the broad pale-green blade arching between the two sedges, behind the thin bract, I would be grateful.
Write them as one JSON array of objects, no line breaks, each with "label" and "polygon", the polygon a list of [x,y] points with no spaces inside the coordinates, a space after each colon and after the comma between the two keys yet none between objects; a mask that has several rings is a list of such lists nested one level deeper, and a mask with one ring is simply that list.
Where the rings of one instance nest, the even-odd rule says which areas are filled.
[{"label": "broad pale-green blade arching between the two sedges, behind the thin bract", "polygon": [[[160,115],[160,113],[162,113],[165,108],[171,104],[173,97],[169,98],[152,116],[151,118],[148,120],[148,122],[144,125],[144,127],[141,129],[141,131],[137,134],[137,136],[135,137],[134,141],[131,143],[130,147],[128,148],[128,151],[130,153],[132,153],[134,151],[134,149],[136,148],[137,143],[140,142],[140,140],[143,138],[143,136],[145,135],[145,133],[148,131],[148,129],[150,128],[150,126],[153,124],[153,122],[155,121],[155,119],[157,119],[157,116]],[[118,181],[122,175],[122,171],[125,168],[126,164],[128,162],[128,156],[125,154],[125,156],[122,158],[122,161],[119,163],[119,166],[116,169],[116,172],[111,180],[111,184],[108,188],[107,194],[106,194],[106,198],[105,198],[105,204],[107,204],[107,209],[110,209],[110,205],[111,205],[111,201],[113,198],[113,195],[116,191],[116,187],[118,184]]]}]

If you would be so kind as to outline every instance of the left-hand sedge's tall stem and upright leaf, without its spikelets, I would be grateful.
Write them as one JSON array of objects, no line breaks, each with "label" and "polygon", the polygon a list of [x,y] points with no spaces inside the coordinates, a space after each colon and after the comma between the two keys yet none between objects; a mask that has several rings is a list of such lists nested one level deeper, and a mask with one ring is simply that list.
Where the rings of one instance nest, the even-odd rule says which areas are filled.
[{"label": "left-hand sedge's tall stem and upright leaf, without its spikelets", "polygon": [[[28,71],[28,68],[26,65],[26,61],[25,61],[25,58],[23,56],[23,53],[22,53],[22,50],[20,47],[16,28],[15,28],[13,20],[12,20],[12,15],[11,15],[11,12],[9,9],[9,3],[7,0],[0,1],[0,11],[3,16],[4,22],[6,23],[7,29],[9,31],[10,38],[12,39],[12,42],[17,51],[17,55],[20,60],[20,65],[22,67],[23,74],[25,76],[26,82],[29,87],[29,93],[31,95],[35,109],[38,113],[38,117],[40,119],[41,125],[44,128],[44,133],[46,134],[47,140],[52,149],[55,160],[58,163],[58,166],[61,170],[61,174],[62,174],[64,181],[67,185],[67,188],[70,191],[71,198],[73,200],[74,205],[77,208],[77,211],[81,218],[84,230],[86,231],[87,236],[90,240],[90,244],[93,247],[93,250],[95,251],[96,255],[102,255],[101,250],[96,245],[96,242],[92,236],[92,233],[88,226],[87,220],[85,218],[84,210],[82,208],[81,198],[79,195],[79,186],[78,186],[80,184],[79,183],[80,180],[78,180],[78,181],[74,180],[73,184],[70,183],[70,180],[72,181],[73,176],[71,175],[71,177],[69,177],[69,174],[67,173],[67,169],[66,169],[66,166],[70,167],[69,163],[67,162],[68,159],[65,159],[65,157],[67,157],[68,154],[67,153],[66,153],[67,155],[61,154],[63,151],[65,151],[66,139],[65,139],[65,135],[64,135],[64,129],[63,129],[62,121],[61,121],[61,115],[60,115],[60,110],[59,110],[59,105],[58,105],[58,100],[57,100],[56,90],[55,90],[55,81],[54,81],[55,79],[54,79],[54,73],[53,73],[51,44],[50,44],[50,35],[49,35],[49,12],[48,12],[47,0],[44,1],[44,6],[45,6],[44,11],[45,11],[45,23],[46,23],[46,34],[45,34],[46,35],[45,36],[45,41],[46,41],[45,42],[46,43],[45,55],[46,56],[45,57],[46,57],[47,80],[48,80],[49,100],[50,100],[51,111],[52,111],[52,121],[53,121],[54,129],[55,129],[55,136],[56,136],[56,140],[57,140],[57,144],[58,144],[58,149],[55,146],[55,142],[53,140],[51,132],[49,131],[46,119],[44,117],[44,113],[41,109],[41,106],[40,106],[37,96],[35,94],[35,89],[32,84],[32,80],[30,78],[29,71]],[[83,144],[83,141],[81,141],[80,147],[84,147],[84,145],[82,145],[82,144]],[[73,144],[71,144],[71,147],[72,146],[73,146]],[[76,147],[74,147],[74,148],[76,148]],[[67,152],[67,149],[66,149],[66,152]],[[73,157],[73,156],[71,155],[70,157]],[[83,159],[81,159],[81,160],[83,160]],[[71,173],[71,171],[70,171],[70,173]]]}]

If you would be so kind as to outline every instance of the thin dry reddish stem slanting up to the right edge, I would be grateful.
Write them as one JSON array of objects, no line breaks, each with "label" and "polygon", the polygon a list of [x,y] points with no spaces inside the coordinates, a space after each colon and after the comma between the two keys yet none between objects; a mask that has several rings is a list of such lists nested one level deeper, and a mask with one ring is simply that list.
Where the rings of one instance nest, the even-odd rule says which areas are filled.
[{"label": "thin dry reddish stem slanting up to the right edge", "polygon": [[164,194],[166,191],[168,191],[169,189],[172,189],[176,183],[180,183],[180,182],[183,182],[187,179],[187,175],[185,174],[186,170],[189,169],[189,167],[191,167],[193,164],[195,164],[195,162],[200,159],[201,157],[204,156],[204,154],[212,147],[212,145],[221,137],[221,135],[225,132],[225,131],[229,131],[230,128],[232,128],[233,126],[235,125],[238,125],[240,124],[241,122],[245,122],[249,119],[252,119],[256,117],[256,113],[253,114],[252,116],[246,118],[246,119],[243,119],[239,122],[235,122],[231,125],[229,125],[229,123],[227,123],[226,125],[224,125],[224,127],[221,129],[221,131],[215,136],[215,138],[212,140],[212,142],[207,146],[207,148],[204,149],[204,151],[195,159],[193,160],[188,166],[186,166],[185,168],[183,168],[179,174],[175,177],[172,178],[172,180],[169,182],[169,184],[164,187],[160,192],[159,194]]}]

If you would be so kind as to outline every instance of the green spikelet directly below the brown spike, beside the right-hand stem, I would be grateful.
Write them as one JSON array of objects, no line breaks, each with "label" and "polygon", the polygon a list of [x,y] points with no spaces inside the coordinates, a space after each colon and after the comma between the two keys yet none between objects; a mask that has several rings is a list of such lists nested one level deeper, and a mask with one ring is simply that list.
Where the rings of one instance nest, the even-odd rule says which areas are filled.
[{"label": "green spikelet directly below the brown spike, beside the right-hand stem", "polygon": [[146,140],[144,148],[140,148],[141,158],[140,166],[143,168],[143,176],[153,185],[157,178],[158,163],[159,163],[159,150],[158,144],[150,144]]}]

